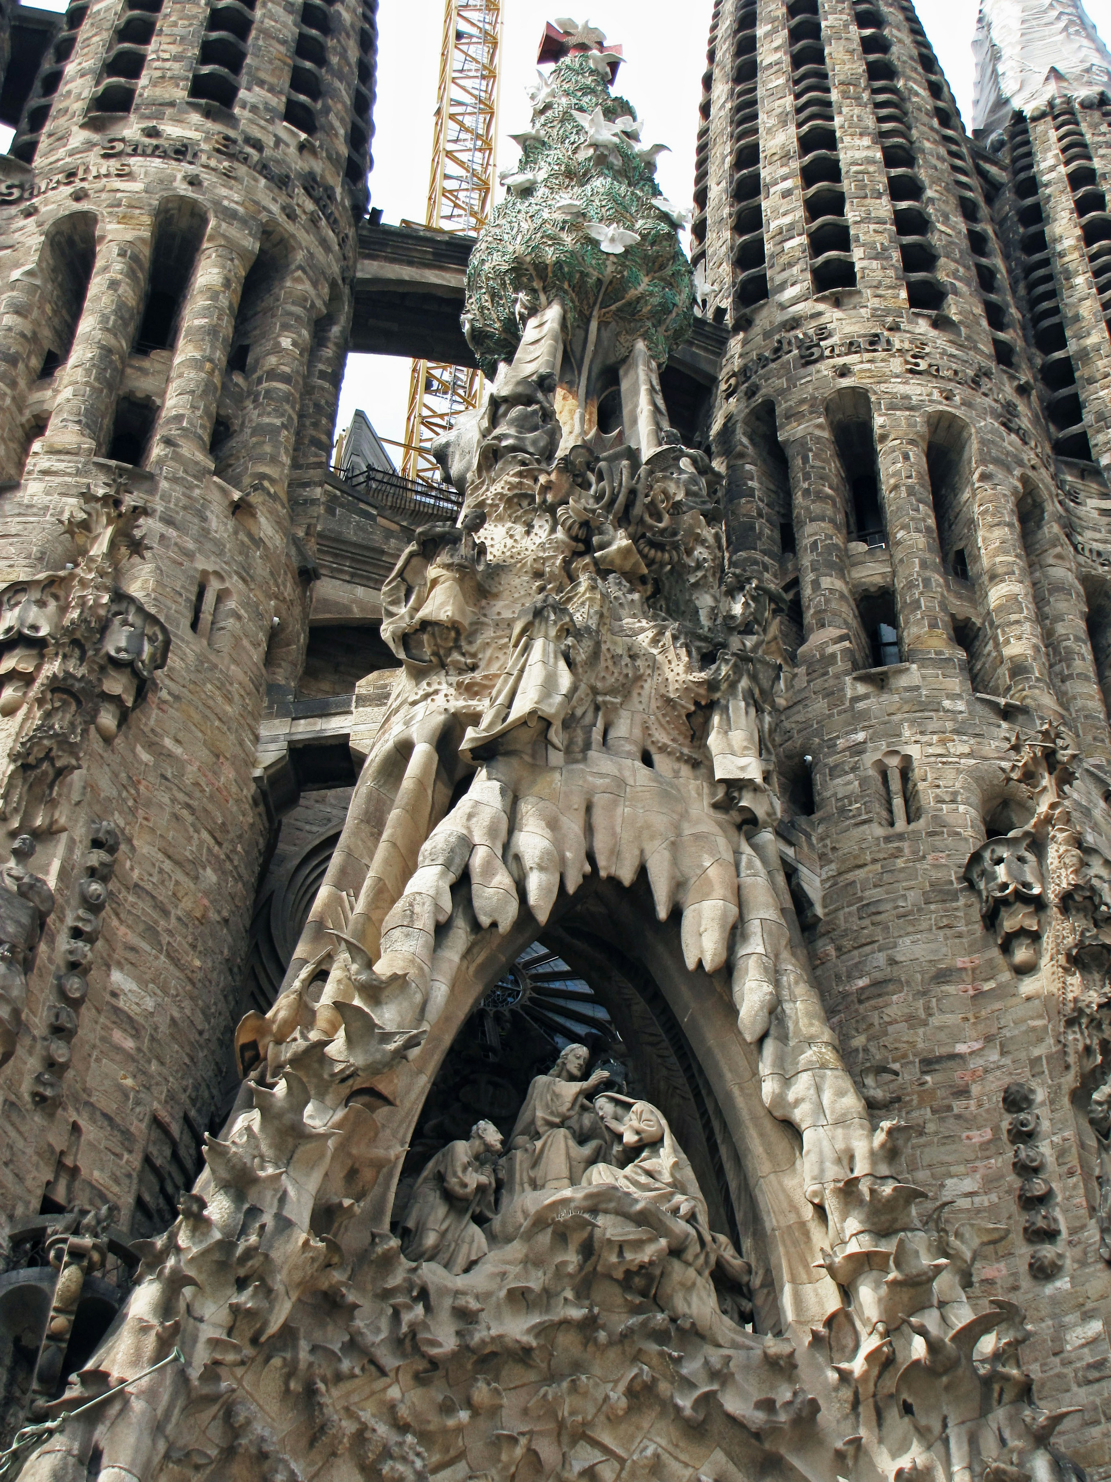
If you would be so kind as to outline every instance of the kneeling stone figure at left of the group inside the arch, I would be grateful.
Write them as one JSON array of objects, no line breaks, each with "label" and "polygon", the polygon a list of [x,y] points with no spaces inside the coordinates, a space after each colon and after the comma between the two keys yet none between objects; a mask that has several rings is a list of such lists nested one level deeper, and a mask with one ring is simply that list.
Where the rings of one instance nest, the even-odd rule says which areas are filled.
[{"label": "kneeling stone figure at left of the group inside the arch", "polygon": [[416,1180],[404,1217],[401,1249],[410,1261],[436,1261],[462,1276],[486,1255],[476,1215],[493,1214],[493,1162],[502,1135],[492,1122],[476,1122],[464,1141],[449,1143]]}]

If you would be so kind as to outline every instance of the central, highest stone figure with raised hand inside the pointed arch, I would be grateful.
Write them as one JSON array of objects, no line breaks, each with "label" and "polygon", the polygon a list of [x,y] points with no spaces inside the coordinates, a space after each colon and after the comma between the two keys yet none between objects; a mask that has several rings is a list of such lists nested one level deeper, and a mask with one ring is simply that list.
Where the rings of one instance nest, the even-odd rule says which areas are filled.
[{"label": "central, highest stone figure with raised hand inside the pointed arch", "polygon": [[593,1091],[609,1080],[607,1070],[582,1077],[590,1063],[585,1045],[567,1045],[547,1076],[536,1076],[510,1138],[511,1153],[530,1153],[517,1169],[516,1190],[570,1189],[601,1156],[601,1125],[591,1106]]}]

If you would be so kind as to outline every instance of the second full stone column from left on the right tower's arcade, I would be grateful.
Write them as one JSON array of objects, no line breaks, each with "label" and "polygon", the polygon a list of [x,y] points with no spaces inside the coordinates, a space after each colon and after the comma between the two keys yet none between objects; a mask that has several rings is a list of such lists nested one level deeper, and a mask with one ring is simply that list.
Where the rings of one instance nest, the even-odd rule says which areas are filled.
[{"label": "second full stone column from left on the right tower's arcade", "polygon": [[892,437],[880,445],[878,464],[902,654],[952,649],[926,451],[915,437]]}]

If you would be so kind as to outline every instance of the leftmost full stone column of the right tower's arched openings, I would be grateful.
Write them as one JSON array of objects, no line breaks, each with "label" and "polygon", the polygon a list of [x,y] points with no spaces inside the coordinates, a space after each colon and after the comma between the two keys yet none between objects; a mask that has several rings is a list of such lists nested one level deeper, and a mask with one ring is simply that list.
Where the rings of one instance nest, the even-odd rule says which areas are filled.
[{"label": "leftmost full stone column of the right tower's arched openings", "polygon": [[787,443],[791,514],[798,553],[798,591],[807,642],[822,628],[849,633],[865,652],[861,618],[849,587],[846,489],[837,448],[825,427]]}]

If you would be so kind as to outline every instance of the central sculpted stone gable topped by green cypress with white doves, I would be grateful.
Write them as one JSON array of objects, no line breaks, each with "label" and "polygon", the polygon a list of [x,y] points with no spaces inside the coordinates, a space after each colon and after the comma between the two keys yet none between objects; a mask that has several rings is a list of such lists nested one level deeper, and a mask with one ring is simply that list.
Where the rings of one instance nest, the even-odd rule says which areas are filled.
[{"label": "central sculpted stone gable topped by green cypress with white doves", "polygon": [[[782,596],[729,568],[720,476],[668,419],[693,286],[658,148],[601,33],[561,25],[470,259],[490,385],[438,448],[462,516],[384,590],[400,673],[287,987],[62,1405],[107,1398],[25,1482],[1075,1476],[1021,1310],[967,1301],[1007,1232],[918,1211],[809,975],[773,837]],[[459,1027],[591,892],[698,1046],[773,1331],[724,1295],[745,1251],[664,1110],[576,1046],[501,1129],[501,1189],[480,1122],[394,1209]]]}]

